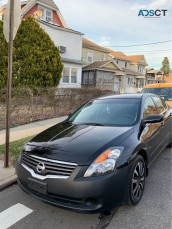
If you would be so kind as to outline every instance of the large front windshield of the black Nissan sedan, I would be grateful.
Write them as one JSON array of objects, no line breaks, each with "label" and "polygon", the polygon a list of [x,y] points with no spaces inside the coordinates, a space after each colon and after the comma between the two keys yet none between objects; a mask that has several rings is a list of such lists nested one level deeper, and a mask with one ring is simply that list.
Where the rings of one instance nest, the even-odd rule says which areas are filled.
[{"label": "large front windshield of the black Nissan sedan", "polygon": [[97,99],[78,109],[68,122],[86,125],[132,126],[139,117],[140,99]]}]

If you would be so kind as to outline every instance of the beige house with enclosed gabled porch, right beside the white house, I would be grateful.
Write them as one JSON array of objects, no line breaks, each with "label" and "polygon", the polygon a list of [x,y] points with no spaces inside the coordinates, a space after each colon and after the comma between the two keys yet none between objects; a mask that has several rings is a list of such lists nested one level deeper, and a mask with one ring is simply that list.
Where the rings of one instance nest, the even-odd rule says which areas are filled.
[{"label": "beige house with enclosed gabled porch, right beside the white house", "polygon": [[109,55],[109,50],[83,38],[82,86],[112,90],[117,93],[121,88],[123,70]]}]

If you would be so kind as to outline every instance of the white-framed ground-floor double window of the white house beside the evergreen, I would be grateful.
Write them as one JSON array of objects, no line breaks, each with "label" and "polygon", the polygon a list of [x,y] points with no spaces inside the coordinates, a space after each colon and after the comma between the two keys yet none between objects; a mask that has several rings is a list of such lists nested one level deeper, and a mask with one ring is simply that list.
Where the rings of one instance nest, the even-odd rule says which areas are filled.
[{"label": "white-framed ground-floor double window of the white house beside the evergreen", "polygon": [[77,68],[73,67],[64,67],[62,73],[62,82],[63,83],[77,83]]}]

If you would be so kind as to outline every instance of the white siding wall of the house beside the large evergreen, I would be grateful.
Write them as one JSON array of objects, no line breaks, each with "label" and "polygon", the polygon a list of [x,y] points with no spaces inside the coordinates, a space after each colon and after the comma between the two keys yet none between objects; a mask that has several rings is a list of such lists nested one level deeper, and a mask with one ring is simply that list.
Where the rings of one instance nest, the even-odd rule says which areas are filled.
[{"label": "white siding wall of the house beside the large evergreen", "polygon": [[[66,47],[64,53],[60,53],[64,66],[70,68],[77,68],[77,83],[63,83],[60,81],[59,88],[75,88],[81,87],[81,75],[82,75],[82,34],[73,30],[67,30],[59,28],[57,26],[49,26],[40,22],[40,26],[50,36],[54,44],[59,47]],[[66,59],[66,60],[63,60]],[[69,61],[69,62],[68,62]]]}]

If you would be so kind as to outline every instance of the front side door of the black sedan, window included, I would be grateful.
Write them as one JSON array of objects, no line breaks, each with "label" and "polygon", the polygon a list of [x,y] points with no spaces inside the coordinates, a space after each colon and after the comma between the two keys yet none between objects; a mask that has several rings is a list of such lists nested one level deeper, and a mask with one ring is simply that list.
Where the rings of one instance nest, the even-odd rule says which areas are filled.
[{"label": "front side door of the black sedan, window included", "polygon": [[[158,109],[151,96],[148,96],[143,104],[143,118],[151,115],[158,115]],[[145,143],[148,148],[149,161],[161,151],[160,145],[163,138],[162,123],[148,123],[144,126],[140,140]]]}]

